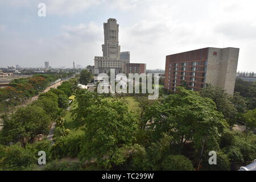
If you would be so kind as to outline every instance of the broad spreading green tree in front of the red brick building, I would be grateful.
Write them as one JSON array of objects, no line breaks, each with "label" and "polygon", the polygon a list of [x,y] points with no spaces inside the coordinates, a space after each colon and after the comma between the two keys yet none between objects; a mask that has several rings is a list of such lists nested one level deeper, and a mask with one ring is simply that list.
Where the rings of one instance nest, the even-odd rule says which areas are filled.
[{"label": "broad spreading green tree in front of the red brick building", "polygon": [[218,148],[218,135],[228,125],[214,102],[183,87],[177,90],[177,94],[156,101],[147,109],[144,119],[151,121],[152,136],[160,139],[168,134],[173,137],[170,142],[179,144],[192,141],[198,150],[205,138],[208,148]]}]

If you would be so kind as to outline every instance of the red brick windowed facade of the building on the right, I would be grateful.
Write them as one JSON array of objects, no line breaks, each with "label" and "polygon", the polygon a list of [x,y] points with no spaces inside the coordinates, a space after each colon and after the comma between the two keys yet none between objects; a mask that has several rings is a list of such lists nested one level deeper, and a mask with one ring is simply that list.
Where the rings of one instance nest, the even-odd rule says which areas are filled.
[{"label": "red brick windowed facade of the building on the right", "polygon": [[184,85],[184,82],[191,90],[203,88],[207,58],[207,48],[166,56],[164,88],[176,91],[176,87]]}]

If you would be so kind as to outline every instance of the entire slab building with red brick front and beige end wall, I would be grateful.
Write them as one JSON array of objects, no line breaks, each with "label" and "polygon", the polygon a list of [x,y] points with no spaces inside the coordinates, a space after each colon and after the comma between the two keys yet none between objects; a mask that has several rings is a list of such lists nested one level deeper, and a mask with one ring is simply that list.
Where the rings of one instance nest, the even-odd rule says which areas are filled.
[{"label": "entire slab building with red brick front and beige end wall", "polygon": [[238,48],[203,48],[166,56],[164,88],[176,91],[186,84],[198,91],[205,84],[220,86],[230,95],[234,94]]}]

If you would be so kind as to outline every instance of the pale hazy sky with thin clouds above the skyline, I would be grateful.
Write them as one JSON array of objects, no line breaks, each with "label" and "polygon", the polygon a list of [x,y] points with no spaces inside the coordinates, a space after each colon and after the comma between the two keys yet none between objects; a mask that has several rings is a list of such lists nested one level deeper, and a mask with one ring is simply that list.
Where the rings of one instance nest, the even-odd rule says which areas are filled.
[{"label": "pale hazy sky with thin clouds above the skyline", "polygon": [[[38,4],[46,3],[46,17]],[[102,56],[103,23],[119,24],[121,51],[147,69],[166,55],[240,48],[238,71],[256,71],[255,0],[0,0],[0,67],[83,67]]]}]

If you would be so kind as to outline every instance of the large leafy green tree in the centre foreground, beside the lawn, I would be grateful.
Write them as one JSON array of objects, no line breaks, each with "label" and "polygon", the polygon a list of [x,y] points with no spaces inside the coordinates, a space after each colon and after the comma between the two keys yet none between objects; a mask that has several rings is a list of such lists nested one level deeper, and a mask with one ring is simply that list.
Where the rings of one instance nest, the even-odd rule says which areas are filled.
[{"label": "large leafy green tree in the centre foreground, beside the lawn", "polygon": [[138,124],[127,104],[121,101],[102,101],[88,107],[85,136],[81,144],[82,160],[96,160],[98,166],[110,169],[125,162],[124,148],[135,140]]}]

